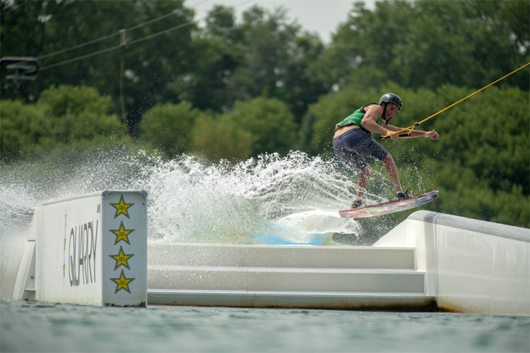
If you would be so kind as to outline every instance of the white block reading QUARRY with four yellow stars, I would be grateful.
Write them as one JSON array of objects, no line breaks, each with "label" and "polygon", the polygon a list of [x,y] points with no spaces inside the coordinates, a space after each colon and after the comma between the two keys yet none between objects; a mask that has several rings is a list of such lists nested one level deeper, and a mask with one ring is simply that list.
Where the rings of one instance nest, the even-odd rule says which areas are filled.
[{"label": "white block reading QUARRY with four yellow stars", "polygon": [[102,191],[41,206],[36,299],[146,306],[145,191]]}]

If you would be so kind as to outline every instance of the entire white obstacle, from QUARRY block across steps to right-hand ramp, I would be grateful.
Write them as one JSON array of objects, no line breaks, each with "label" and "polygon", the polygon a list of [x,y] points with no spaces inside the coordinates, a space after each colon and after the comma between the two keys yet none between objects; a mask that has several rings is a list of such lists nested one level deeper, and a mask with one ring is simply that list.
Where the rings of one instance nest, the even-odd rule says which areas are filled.
[{"label": "entire white obstacle, from QUARRY block across steps to right-hand ramp", "polygon": [[147,244],[146,193],[102,191],[1,251],[3,299],[530,316],[530,229],[428,211],[373,246]]}]

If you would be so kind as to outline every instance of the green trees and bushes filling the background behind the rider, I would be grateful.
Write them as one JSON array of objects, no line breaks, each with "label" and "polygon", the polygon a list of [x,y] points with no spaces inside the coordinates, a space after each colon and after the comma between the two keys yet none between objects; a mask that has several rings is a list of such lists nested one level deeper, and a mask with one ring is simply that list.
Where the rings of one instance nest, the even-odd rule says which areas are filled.
[{"label": "green trees and bushes filling the background behind the rider", "polygon": [[[3,163],[131,142],[213,162],[289,150],[332,158],[334,125],[384,92],[404,100],[393,122],[411,126],[530,61],[528,1],[358,2],[327,44],[282,8],[253,6],[237,20],[215,6],[200,28],[182,1],[0,6],[2,56],[44,67],[13,81],[2,66]],[[60,52],[95,38],[105,39]],[[439,141],[382,143],[404,186],[420,176],[443,193],[435,210],[529,227],[529,107],[524,68],[419,127]]]}]

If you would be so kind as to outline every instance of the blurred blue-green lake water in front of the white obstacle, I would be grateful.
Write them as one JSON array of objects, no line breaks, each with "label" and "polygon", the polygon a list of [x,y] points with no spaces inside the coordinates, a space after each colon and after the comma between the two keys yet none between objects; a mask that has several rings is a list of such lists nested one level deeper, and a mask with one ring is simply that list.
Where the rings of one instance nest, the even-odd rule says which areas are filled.
[{"label": "blurred blue-green lake water in front of the white obstacle", "polygon": [[1,352],[530,352],[530,318],[0,302]]}]

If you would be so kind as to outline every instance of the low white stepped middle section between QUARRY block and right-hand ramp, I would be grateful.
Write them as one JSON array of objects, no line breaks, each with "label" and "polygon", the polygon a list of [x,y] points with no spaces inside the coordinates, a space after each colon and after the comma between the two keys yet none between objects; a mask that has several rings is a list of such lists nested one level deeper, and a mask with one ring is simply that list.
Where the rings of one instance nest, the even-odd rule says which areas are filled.
[{"label": "low white stepped middle section between QUARRY block and right-hand ramp", "polygon": [[148,303],[359,309],[429,306],[413,248],[149,244]]}]

